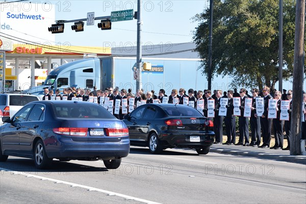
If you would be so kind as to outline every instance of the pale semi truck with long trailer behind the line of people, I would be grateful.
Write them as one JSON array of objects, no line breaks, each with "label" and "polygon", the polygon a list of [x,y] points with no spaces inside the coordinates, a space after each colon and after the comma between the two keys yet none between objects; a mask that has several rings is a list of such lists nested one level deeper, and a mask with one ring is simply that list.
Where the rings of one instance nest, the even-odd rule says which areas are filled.
[{"label": "pale semi truck with long trailer behind the line of people", "polygon": [[[208,87],[205,75],[202,75],[199,59],[142,58],[151,64],[150,70],[142,70],[142,88],[144,91],[164,89],[167,94],[172,89],[203,90]],[[104,90],[118,87],[136,92],[135,57],[87,58],[69,62],[50,71],[42,86],[24,90],[25,93],[43,95],[43,89],[60,90],[67,87]],[[214,89],[227,90],[228,79],[218,79],[212,83]]]}]

